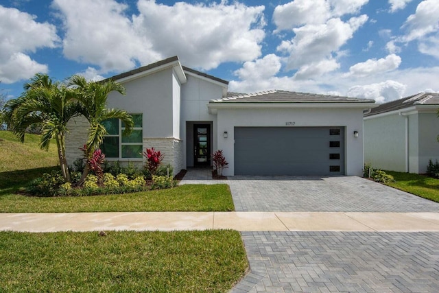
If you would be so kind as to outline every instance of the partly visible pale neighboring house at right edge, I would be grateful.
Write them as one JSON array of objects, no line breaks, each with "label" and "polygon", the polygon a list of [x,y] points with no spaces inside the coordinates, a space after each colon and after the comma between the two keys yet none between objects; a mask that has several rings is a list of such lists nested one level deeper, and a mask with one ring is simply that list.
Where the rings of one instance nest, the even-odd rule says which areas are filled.
[{"label": "partly visible pale neighboring house at right edge", "polygon": [[364,159],[372,167],[425,173],[439,160],[439,94],[418,93],[364,115]]}]

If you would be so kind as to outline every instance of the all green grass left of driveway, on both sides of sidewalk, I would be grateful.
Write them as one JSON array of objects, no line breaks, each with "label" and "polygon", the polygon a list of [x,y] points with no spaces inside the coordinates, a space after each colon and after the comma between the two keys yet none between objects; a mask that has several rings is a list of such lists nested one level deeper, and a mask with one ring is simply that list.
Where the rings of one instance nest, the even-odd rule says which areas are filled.
[{"label": "all green grass left of driveway, on both sides of sidewalk", "polygon": [[[58,169],[55,144],[0,131],[0,212],[232,211],[227,185],[110,196],[16,194]],[[0,292],[227,292],[248,261],[237,231],[0,232]]]}]

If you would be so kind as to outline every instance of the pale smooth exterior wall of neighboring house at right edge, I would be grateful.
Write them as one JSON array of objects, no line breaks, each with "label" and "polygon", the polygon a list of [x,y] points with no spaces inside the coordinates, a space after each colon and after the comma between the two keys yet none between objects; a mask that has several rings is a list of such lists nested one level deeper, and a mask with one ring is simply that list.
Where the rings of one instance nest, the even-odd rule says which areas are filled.
[{"label": "pale smooth exterior wall of neighboring house at right edge", "polygon": [[431,111],[366,117],[364,159],[380,169],[423,174],[430,159],[439,161],[438,134],[439,119]]}]

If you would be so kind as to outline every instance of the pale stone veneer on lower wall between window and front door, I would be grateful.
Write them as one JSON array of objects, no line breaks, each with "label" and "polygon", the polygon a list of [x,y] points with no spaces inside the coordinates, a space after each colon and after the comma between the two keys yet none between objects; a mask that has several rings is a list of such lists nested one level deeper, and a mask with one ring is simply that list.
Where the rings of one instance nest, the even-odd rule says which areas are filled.
[{"label": "pale stone veneer on lower wall between window and front door", "polygon": [[143,150],[154,148],[159,150],[163,157],[163,165],[171,164],[174,167],[174,174],[178,174],[183,169],[183,143],[181,139],[174,137],[166,138],[143,138]]}]

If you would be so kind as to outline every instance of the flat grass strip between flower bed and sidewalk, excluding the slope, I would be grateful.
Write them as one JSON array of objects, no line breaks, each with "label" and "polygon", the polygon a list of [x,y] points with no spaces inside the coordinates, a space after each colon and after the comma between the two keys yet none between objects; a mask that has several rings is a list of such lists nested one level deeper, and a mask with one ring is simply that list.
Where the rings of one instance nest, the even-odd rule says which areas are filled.
[{"label": "flat grass strip between flower bed and sidewalk, excluding the slope", "polygon": [[182,185],[171,189],[108,196],[38,198],[0,194],[0,213],[233,210],[230,189],[224,184]]}]

